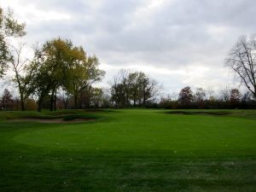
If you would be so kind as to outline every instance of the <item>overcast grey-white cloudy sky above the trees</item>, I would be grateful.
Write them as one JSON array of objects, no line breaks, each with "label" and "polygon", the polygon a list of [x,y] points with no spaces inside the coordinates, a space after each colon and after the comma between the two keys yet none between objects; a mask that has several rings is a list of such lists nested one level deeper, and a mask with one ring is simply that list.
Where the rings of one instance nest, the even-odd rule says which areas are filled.
[{"label": "overcast grey-white cloudy sky above the trees", "polygon": [[26,42],[61,37],[97,55],[106,85],[120,68],[156,79],[166,93],[184,86],[235,86],[224,58],[253,35],[255,0],[0,0],[26,22]]}]

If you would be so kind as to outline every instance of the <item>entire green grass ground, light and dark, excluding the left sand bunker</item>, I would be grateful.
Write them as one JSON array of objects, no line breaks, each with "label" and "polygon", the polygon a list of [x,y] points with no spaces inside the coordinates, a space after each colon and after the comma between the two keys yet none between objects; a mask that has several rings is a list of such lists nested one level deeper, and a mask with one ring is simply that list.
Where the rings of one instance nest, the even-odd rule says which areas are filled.
[{"label": "entire green grass ground, light and dark, excluding the left sand bunker", "polygon": [[[41,117],[76,124],[9,122]],[[0,191],[256,191],[256,111],[0,113]]]}]

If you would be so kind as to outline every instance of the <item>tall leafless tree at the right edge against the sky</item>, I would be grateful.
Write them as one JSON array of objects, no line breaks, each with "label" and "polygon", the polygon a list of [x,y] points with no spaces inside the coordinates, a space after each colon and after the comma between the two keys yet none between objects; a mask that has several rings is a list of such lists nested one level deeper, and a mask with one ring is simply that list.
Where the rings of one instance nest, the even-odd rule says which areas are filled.
[{"label": "tall leafless tree at the right edge against the sky", "polygon": [[226,65],[231,67],[241,83],[256,98],[256,39],[242,36],[237,41],[226,59]]}]

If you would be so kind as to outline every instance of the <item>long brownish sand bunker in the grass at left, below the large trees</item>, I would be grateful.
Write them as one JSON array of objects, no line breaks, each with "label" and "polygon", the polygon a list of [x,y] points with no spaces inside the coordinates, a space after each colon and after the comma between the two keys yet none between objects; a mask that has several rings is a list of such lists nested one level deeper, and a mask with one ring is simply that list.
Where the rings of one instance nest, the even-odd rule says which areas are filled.
[{"label": "long brownish sand bunker in the grass at left, below the large trees", "polygon": [[9,119],[11,122],[38,122],[38,123],[47,123],[47,124],[70,124],[70,123],[82,123],[87,121],[92,121],[95,119],[72,119],[72,120],[63,120],[63,119],[40,119],[40,118],[22,118],[22,119]]}]

